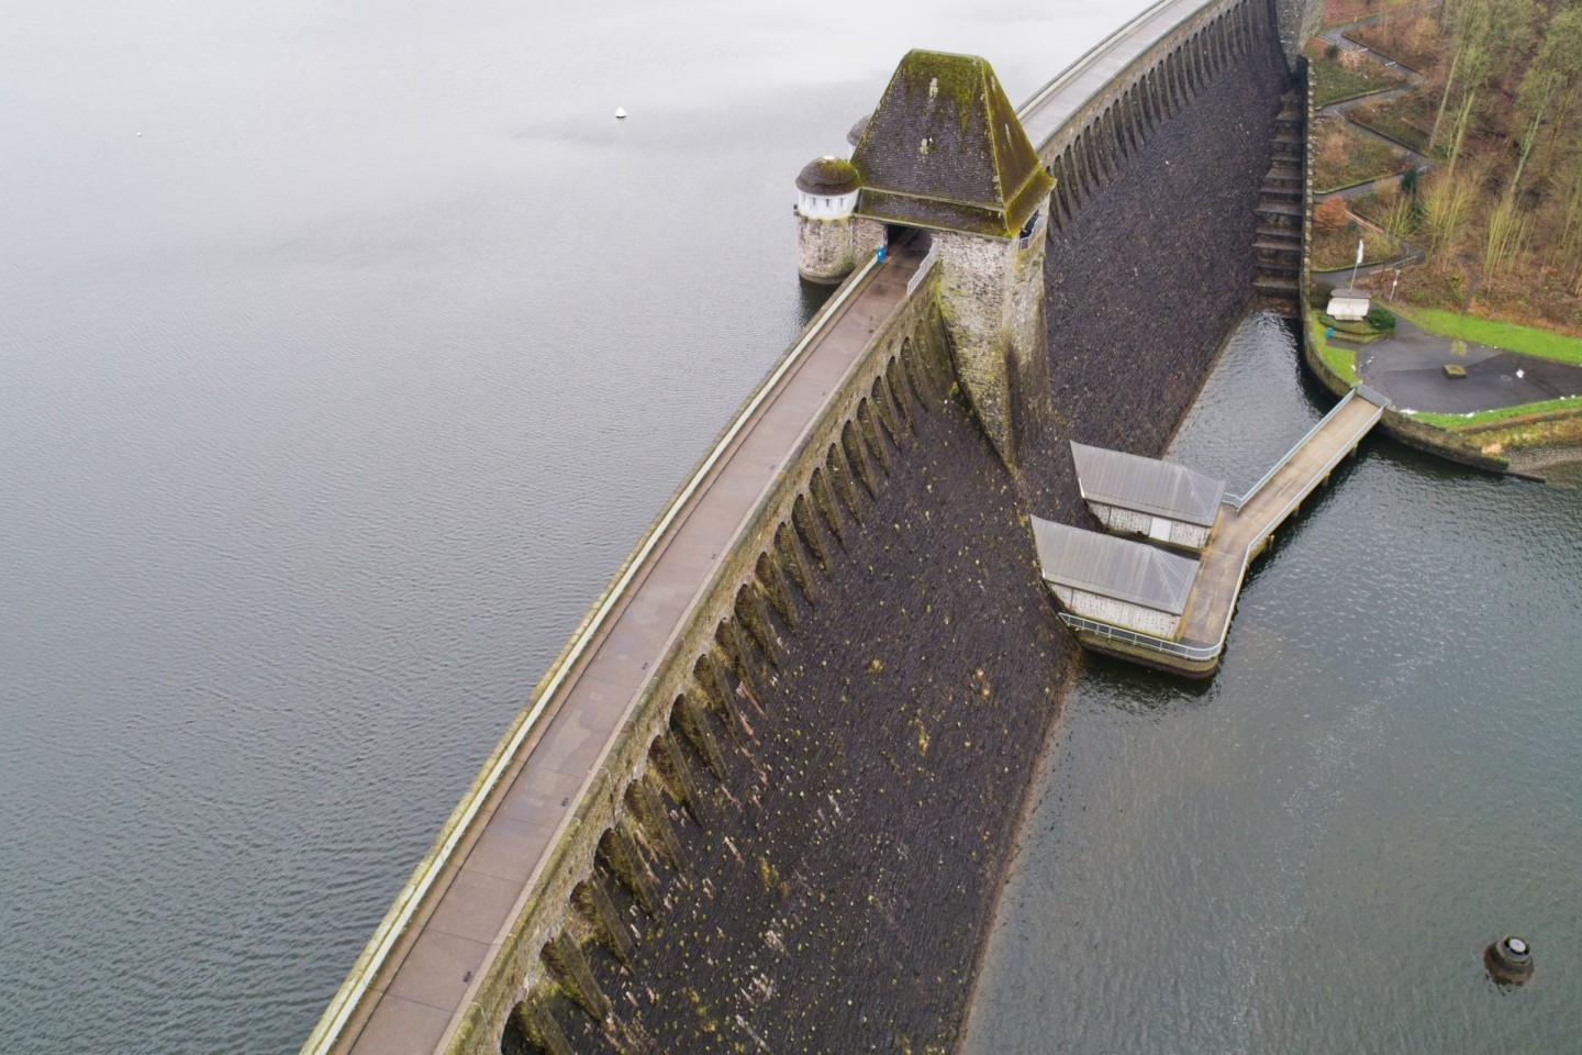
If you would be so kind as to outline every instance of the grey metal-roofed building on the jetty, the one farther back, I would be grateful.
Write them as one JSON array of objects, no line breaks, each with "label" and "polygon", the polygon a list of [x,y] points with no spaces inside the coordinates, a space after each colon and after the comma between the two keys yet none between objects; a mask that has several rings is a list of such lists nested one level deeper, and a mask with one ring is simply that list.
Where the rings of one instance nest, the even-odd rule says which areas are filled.
[{"label": "grey metal-roofed building on the jetty, the one farther back", "polygon": [[1082,500],[1106,530],[1202,550],[1209,544],[1224,481],[1185,465],[1122,451],[1071,444]]}]

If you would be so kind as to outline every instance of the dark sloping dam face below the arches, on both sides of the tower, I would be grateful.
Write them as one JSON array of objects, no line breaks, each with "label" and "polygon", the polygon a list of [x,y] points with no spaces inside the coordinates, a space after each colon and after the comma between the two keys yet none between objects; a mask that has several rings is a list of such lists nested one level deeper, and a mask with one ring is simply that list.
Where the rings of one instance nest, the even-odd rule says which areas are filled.
[{"label": "dark sloping dam face below the arches, on both sides of the tower", "polygon": [[1288,85],[1266,52],[1050,225],[1052,399],[1017,476],[946,392],[948,350],[900,386],[911,427],[797,533],[807,590],[726,642],[706,728],[676,737],[690,802],[657,794],[666,838],[600,857],[590,914],[631,940],[568,946],[506,1052],[952,1047],[1077,653],[1027,512],[1088,524],[1066,441],[1156,454],[1245,310]]}]

